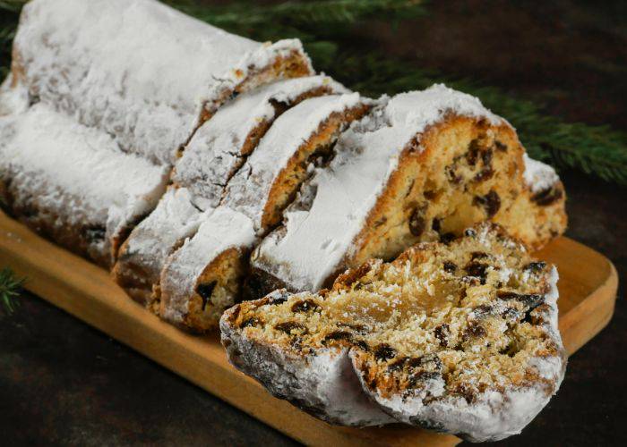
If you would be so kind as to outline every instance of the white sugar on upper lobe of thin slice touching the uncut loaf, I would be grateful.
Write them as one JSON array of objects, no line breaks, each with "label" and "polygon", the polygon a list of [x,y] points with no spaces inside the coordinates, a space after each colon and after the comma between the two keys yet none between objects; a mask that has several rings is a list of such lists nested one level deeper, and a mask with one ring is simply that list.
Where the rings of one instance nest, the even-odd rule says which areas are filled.
[{"label": "white sugar on upper lobe of thin slice touching the uncut loaf", "polygon": [[275,104],[290,106],[316,89],[347,91],[328,76],[309,76],[279,80],[223,105],[194,133],[176,162],[173,181],[192,192],[196,206],[217,207],[228,180],[245,161],[245,143],[251,132],[275,119],[279,114]]}]

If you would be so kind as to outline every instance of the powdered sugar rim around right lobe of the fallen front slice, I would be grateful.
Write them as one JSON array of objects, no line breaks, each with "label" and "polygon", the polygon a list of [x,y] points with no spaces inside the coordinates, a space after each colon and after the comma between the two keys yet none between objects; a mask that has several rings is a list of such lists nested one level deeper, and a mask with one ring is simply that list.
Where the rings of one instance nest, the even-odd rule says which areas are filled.
[{"label": "powdered sugar rim around right lobe of the fallen front slice", "polygon": [[[547,309],[544,328],[563,352],[562,338],[557,329],[557,280],[557,270],[553,267],[550,289],[545,295]],[[354,359],[354,356],[351,357]],[[355,365],[355,359],[353,361]],[[554,384],[553,392],[559,388],[565,372],[565,358],[537,357],[530,359],[529,365],[536,369],[542,379]],[[545,386],[536,383],[520,388],[505,388],[502,392],[488,389],[479,394],[475,401],[468,402],[460,396],[445,396],[444,383],[440,377],[414,395],[384,398],[379,392],[370,392],[362,375],[359,378],[365,392],[397,420],[458,434],[472,442],[497,441],[511,434],[519,434],[552,396],[551,392],[546,392]],[[425,403],[428,395],[439,399],[427,400],[428,403]]]}]

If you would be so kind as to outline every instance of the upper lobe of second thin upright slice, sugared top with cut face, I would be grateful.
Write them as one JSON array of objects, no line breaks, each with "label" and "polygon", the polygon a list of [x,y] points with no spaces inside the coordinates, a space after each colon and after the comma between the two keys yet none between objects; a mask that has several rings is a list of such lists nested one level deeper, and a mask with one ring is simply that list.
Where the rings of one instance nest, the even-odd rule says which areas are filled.
[{"label": "upper lobe of second thin upright slice, sugared top with cut face", "polygon": [[350,93],[310,98],[289,109],[228,182],[222,204],[248,215],[257,232],[266,232],[280,222],[315,156],[329,156],[339,133],[370,103]]}]

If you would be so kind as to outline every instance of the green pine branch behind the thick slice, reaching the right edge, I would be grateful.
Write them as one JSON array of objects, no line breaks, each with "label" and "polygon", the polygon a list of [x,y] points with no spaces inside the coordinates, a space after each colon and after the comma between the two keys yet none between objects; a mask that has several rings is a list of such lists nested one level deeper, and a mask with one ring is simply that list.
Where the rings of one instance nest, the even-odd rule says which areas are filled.
[{"label": "green pine branch behind the thick slice, reaching the right edge", "polygon": [[544,114],[540,105],[501,89],[446,77],[380,54],[363,55],[356,49],[336,55],[326,66],[318,66],[351,89],[372,96],[425,89],[444,82],[479,97],[494,113],[505,116],[516,127],[530,156],[627,185],[627,135],[608,126],[565,122]]}]

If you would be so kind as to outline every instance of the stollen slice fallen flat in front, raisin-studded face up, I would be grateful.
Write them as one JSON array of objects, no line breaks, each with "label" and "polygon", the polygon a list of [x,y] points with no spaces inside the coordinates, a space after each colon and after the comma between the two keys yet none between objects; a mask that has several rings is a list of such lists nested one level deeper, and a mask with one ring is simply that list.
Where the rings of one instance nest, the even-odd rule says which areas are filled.
[{"label": "stollen slice fallen flat in front, raisin-studded face up", "polygon": [[406,424],[498,440],[562,382],[556,282],[554,266],[482,223],[370,260],[331,290],[238,304],[220,320],[222,343],[235,367],[331,423],[389,422],[375,405]]}]

